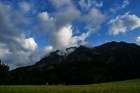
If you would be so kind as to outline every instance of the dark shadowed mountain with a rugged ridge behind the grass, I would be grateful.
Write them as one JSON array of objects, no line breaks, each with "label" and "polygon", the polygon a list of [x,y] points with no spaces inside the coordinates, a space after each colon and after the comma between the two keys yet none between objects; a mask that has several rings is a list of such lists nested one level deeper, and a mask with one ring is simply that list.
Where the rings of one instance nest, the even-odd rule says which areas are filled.
[{"label": "dark shadowed mountain with a rugged ridge behind the grass", "polygon": [[55,51],[32,66],[10,71],[10,84],[91,84],[140,78],[140,46],[109,42]]}]

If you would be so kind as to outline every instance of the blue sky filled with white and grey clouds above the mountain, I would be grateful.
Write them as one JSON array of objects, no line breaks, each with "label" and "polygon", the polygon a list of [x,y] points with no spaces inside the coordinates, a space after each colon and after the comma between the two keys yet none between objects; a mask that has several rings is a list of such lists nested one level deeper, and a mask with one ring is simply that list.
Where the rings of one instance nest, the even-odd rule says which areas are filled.
[{"label": "blue sky filled with white and grey clouds above the mountain", "polygon": [[140,0],[0,0],[0,59],[11,69],[55,50],[140,44]]}]

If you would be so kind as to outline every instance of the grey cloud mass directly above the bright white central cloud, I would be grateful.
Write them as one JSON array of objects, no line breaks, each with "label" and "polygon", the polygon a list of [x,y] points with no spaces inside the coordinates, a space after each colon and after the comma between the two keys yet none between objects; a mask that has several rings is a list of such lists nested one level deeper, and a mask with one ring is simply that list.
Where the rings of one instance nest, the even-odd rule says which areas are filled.
[{"label": "grey cloud mass directly above the bright white central cloud", "polygon": [[38,14],[41,27],[45,32],[56,32],[62,26],[71,24],[71,22],[80,16],[80,11],[72,4],[71,0],[50,0],[56,9],[53,13],[47,11]]}]

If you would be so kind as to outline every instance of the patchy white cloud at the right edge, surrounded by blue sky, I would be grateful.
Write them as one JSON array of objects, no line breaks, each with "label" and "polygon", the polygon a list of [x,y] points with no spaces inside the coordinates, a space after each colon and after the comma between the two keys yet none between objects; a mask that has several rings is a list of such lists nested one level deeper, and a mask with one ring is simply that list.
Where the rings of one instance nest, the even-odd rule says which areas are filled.
[{"label": "patchy white cloud at the right edge, surrounded by blue sky", "polygon": [[140,27],[140,17],[125,13],[110,20],[109,25],[109,33],[112,35],[126,33]]}]

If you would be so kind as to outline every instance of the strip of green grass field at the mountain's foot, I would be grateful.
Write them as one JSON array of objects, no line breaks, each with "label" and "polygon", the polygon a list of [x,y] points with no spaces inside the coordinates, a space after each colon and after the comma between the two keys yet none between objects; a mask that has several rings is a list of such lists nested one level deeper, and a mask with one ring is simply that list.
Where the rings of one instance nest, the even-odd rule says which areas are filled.
[{"label": "strip of green grass field at the mountain's foot", "polygon": [[140,93],[140,79],[91,85],[0,86],[0,93]]}]

